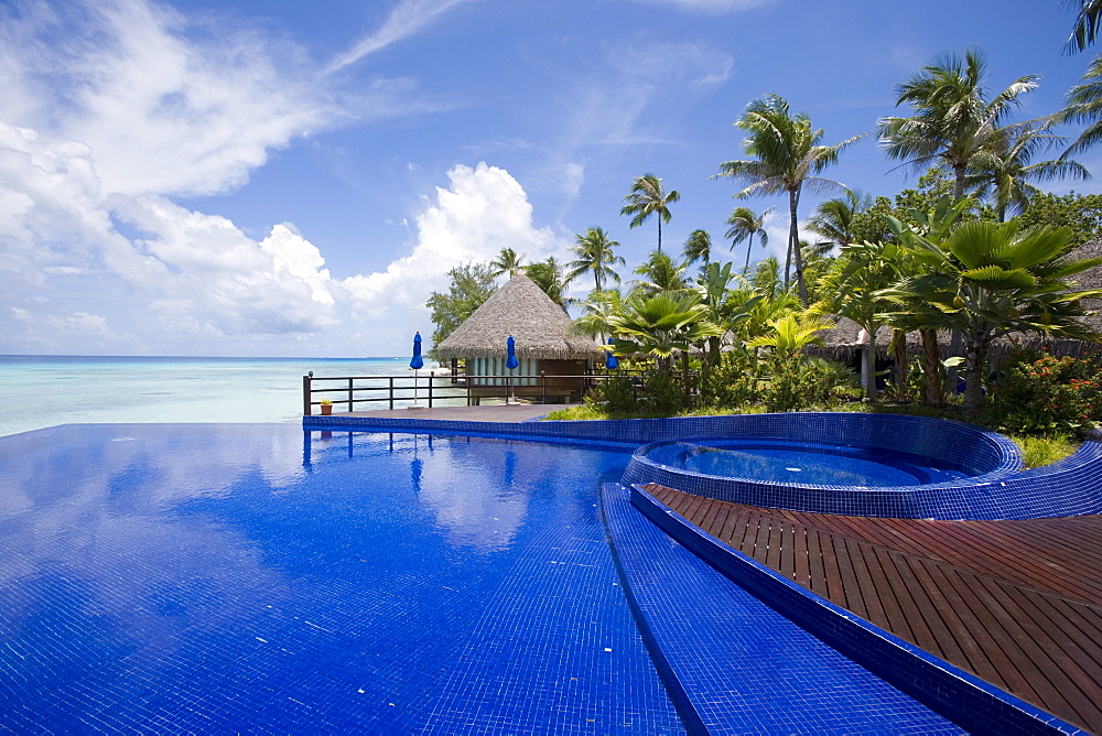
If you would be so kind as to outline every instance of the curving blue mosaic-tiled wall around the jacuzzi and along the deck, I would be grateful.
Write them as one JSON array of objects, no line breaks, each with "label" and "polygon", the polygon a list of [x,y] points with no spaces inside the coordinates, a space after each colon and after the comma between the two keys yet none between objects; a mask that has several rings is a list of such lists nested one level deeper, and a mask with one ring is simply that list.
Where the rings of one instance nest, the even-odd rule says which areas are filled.
[{"label": "curving blue mosaic-tiled wall around the jacuzzi and along the deck", "polygon": [[[1029,519],[1102,512],[1102,443],[1087,442],[1074,456],[1031,470],[1020,467],[1017,448],[997,434],[959,422],[890,414],[809,412],[689,416],[593,422],[451,422],[429,419],[305,416],[307,429],[379,429],[449,434],[508,434],[565,442],[599,441],[644,445],[693,437],[813,437],[845,446],[869,444],[918,455],[957,458],[977,469],[963,480],[906,488],[829,486],[764,487],[699,474],[638,467],[625,483],[661,483],[680,490],[756,506],[856,516],[923,519]],[[964,457],[972,458],[963,461]]]}]

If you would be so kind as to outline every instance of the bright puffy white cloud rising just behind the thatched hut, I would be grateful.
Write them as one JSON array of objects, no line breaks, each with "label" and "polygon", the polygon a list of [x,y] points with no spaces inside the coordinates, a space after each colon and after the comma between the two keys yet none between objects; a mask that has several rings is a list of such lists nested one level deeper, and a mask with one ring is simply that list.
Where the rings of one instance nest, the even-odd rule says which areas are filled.
[{"label": "bright puffy white cloud rising just behind the thatched hut", "polygon": [[417,217],[412,252],[386,271],[356,275],[344,286],[374,315],[389,306],[423,307],[433,290],[447,286],[447,271],[462,263],[488,261],[501,248],[541,260],[560,249],[550,228],[532,224],[525,190],[504,169],[479,163],[447,172],[449,188],[436,187],[436,201]]}]

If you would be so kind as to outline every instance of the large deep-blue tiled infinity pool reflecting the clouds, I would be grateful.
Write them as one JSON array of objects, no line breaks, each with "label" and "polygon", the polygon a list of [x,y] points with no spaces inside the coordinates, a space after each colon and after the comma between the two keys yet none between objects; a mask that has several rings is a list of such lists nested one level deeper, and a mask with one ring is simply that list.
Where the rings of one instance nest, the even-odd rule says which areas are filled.
[{"label": "large deep-blue tiled infinity pool reflecting the clouds", "polygon": [[[683,733],[660,639],[722,690],[711,728],[959,730],[626,497],[606,526],[627,459],[287,425],[0,439],[0,729]],[[715,625],[723,661],[692,653]]]}]

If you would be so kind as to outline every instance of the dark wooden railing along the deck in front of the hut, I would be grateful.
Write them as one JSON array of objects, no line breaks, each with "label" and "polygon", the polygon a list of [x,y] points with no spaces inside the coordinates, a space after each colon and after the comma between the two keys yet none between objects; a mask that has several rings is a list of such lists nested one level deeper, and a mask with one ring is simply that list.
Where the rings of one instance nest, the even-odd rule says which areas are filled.
[{"label": "dark wooden railing along the deck in front of the hut", "polygon": [[[608,379],[606,374],[588,376],[428,376],[417,378],[406,376],[303,376],[302,413],[304,416],[318,413],[314,407],[328,401],[334,410],[358,411],[360,408],[395,409],[417,403],[431,409],[433,405],[466,405],[479,403],[483,399],[526,398],[541,403],[561,402],[566,399],[581,400],[594,386]],[[501,385],[491,383],[500,381]],[[378,404],[385,407],[378,407]]]}]

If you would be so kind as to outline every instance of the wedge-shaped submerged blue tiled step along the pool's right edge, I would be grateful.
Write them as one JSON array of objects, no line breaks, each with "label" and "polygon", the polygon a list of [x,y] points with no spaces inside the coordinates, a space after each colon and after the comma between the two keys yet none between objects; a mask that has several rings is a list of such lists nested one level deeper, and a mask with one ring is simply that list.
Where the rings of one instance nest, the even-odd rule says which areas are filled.
[{"label": "wedge-shaped submerged blue tiled step along the pool's right edge", "polygon": [[700,558],[604,484],[636,617],[691,703],[696,733],[962,733],[824,645]]}]

